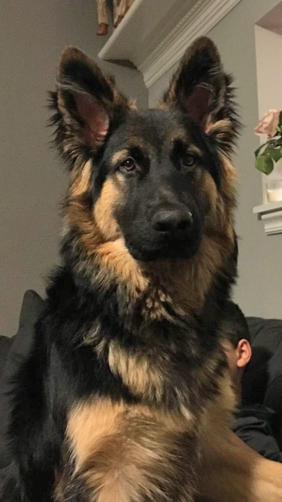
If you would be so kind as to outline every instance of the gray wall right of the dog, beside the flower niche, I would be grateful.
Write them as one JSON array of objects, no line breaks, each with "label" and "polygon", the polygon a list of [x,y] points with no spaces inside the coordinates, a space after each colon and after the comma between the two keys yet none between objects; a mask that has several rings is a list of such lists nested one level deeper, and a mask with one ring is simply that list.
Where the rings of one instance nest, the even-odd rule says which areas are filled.
[{"label": "gray wall right of the dog, beside the flower niche", "polygon": [[[234,298],[246,315],[282,318],[282,234],[266,236],[262,222],[252,214],[252,207],[262,203],[261,176],[254,169],[253,156],[258,146],[252,132],[258,119],[254,24],[277,3],[241,0],[208,35],[217,44],[226,70],[235,77],[245,125],[234,159],[240,173],[236,225],[240,236],[239,279]],[[150,105],[168,85],[172,70],[150,88]]]}]

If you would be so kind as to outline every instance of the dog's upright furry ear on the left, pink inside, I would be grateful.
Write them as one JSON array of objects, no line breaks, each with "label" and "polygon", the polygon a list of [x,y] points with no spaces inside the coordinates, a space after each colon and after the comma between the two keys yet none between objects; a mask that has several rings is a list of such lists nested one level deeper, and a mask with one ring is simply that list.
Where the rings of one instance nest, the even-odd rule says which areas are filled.
[{"label": "dog's upright furry ear on the left, pink inside", "polygon": [[56,142],[63,156],[72,160],[83,151],[95,153],[107,136],[113,114],[127,106],[114,81],[75,47],[67,47],[61,56],[52,99],[57,109],[53,119]]}]

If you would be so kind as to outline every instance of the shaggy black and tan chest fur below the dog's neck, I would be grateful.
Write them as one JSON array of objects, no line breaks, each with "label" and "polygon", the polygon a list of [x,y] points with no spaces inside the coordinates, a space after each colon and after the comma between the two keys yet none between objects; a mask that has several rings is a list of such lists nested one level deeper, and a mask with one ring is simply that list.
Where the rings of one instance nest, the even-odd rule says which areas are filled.
[{"label": "shaggy black and tan chest fur below the dog's neck", "polygon": [[[80,292],[76,315],[72,297],[69,308],[79,333],[71,333],[69,317],[67,326],[60,326],[72,340],[72,353],[62,354],[63,347],[69,349],[55,341],[61,357],[81,374],[80,383],[75,375],[80,388],[67,409],[56,502],[76,500],[75,493],[87,502],[192,500],[189,466],[198,464],[203,417],[221,392],[225,370],[219,338],[201,331],[189,316],[176,315],[171,304],[167,310],[165,295],[167,315],[157,320],[141,315],[128,298],[126,310],[121,296],[119,288],[99,300],[99,309],[92,299],[90,310],[89,298],[83,303]],[[109,319],[108,308],[116,318]],[[105,383],[98,391],[95,379]]]}]

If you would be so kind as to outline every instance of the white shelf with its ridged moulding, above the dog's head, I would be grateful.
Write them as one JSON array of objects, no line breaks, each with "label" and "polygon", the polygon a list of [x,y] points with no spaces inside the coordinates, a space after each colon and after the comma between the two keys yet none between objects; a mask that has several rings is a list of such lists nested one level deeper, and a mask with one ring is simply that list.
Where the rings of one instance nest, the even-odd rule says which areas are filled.
[{"label": "white shelf with its ridged moulding, above the dog's head", "polygon": [[147,87],[205,35],[240,0],[135,0],[99,52],[105,60],[128,60]]}]

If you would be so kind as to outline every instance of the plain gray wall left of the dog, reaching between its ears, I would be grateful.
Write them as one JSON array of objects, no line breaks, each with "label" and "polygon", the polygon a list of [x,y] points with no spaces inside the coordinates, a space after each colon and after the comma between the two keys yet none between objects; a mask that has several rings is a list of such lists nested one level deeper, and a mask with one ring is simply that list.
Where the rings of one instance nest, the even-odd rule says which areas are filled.
[{"label": "plain gray wall left of the dog, reaching between its ears", "polygon": [[[0,303],[1,334],[18,325],[22,297],[44,295],[44,276],[58,263],[59,201],[66,174],[48,146],[46,91],[54,87],[60,52],[73,44],[97,59],[94,0],[0,2]],[[143,77],[116,64],[101,66],[121,90],[148,104]]]}]

